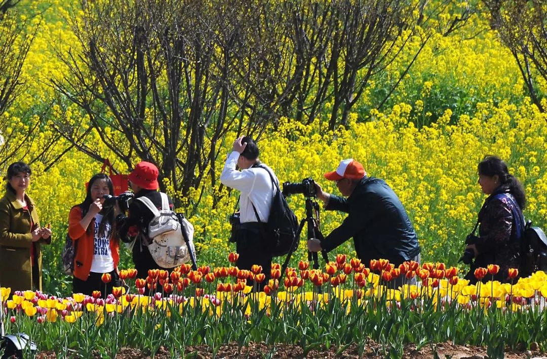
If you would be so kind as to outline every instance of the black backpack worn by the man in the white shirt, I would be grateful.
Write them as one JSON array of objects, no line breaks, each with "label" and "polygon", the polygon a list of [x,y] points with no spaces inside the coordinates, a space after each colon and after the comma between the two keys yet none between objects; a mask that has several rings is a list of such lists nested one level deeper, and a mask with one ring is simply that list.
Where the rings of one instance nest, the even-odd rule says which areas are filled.
[{"label": "black backpack worn by the man in the white shirt", "polygon": [[[270,175],[272,183],[277,188],[274,198],[272,199],[270,216],[268,217],[268,221],[261,226],[261,231],[269,242],[272,256],[284,256],[298,247],[298,238],[295,238],[298,233],[298,219],[294,215],[294,212],[289,208],[285,196],[281,193],[279,185],[270,171],[263,166],[255,167],[266,170]],[[254,214],[257,216],[257,221],[262,223],[260,222],[257,209],[254,208],[252,202],[251,205],[253,206]]]}]

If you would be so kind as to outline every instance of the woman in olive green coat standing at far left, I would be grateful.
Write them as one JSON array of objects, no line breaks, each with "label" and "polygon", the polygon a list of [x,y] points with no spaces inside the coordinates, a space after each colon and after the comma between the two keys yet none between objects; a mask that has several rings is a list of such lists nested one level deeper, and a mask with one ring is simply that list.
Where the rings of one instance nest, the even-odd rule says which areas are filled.
[{"label": "woman in olive green coat standing at far left", "polygon": [[0,285],[11,293],[42,290],[41,244],[51,243],[49,228],[40,227],[36,205],[25,191],[31,169],[24,162],[8,167],[8,185],[0,199]]}]

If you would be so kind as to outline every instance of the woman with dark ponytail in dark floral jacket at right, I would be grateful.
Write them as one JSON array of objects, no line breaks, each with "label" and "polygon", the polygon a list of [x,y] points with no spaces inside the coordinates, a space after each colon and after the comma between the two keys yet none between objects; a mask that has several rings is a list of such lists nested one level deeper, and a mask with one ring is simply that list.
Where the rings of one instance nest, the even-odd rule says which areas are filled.
[{"label": "woman with dark ponytail in dark floral jacket at right", "polygon": [[[497,264],[494,280],[509,281],[508,269],[519,268],[520,236],[524,230],[522,210],[526,196],[522,185],[509,174],[507,164],[496,156],[486,156],[479,163],[479,185],[489,195],[479,211],[479,235],[472,233],[465,249],[473,251],[475,261],[465,276],[476,283],[474,270]],[[484,280],[491,280],[487,275]]]}]

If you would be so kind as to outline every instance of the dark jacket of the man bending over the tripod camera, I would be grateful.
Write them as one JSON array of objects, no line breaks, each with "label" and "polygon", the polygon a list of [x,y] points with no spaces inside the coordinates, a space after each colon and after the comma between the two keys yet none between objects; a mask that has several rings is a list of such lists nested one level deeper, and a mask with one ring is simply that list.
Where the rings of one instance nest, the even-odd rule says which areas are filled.
[{"label": "dark jacket of the man bending over the tripod camera", "polygon": [[384,258],[398,266],[420,253],[403,204],[381,179],[363,178],[350,197],[331,196],[325,209],[346,212],[348,216],[325,237],[324,250],[333,250],[353,237],[357,257],[364,264]]}]

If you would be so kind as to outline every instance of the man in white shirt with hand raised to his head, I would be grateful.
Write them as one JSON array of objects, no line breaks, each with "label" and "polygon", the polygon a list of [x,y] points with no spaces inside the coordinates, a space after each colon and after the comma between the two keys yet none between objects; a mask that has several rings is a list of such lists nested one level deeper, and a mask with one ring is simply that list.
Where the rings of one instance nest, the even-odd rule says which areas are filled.
[{"label": "man in white shirt with hand raised to his head", "polygon": [[[266,280],[260,286],[262,289],[270,279],[272,255],[269,244],[261,234],[262,225],[258,223],[258,219],[260,222],[267,222],[272,199],[277,191],[270,174],[277,184],[279,181],[271,168],[260,163],[258,155],[257,143],[252,138],[237,138],[233,151],[226,159],[220,182],[241,192],[241,228],[236,233],[236,251],[239,258],[236,266],[249,270],[253,264],[262,266],[262,273],[266,275]],[[237,170],[236,165],[241,170]],[[257,167],[259,165],[261,168]]]}]

